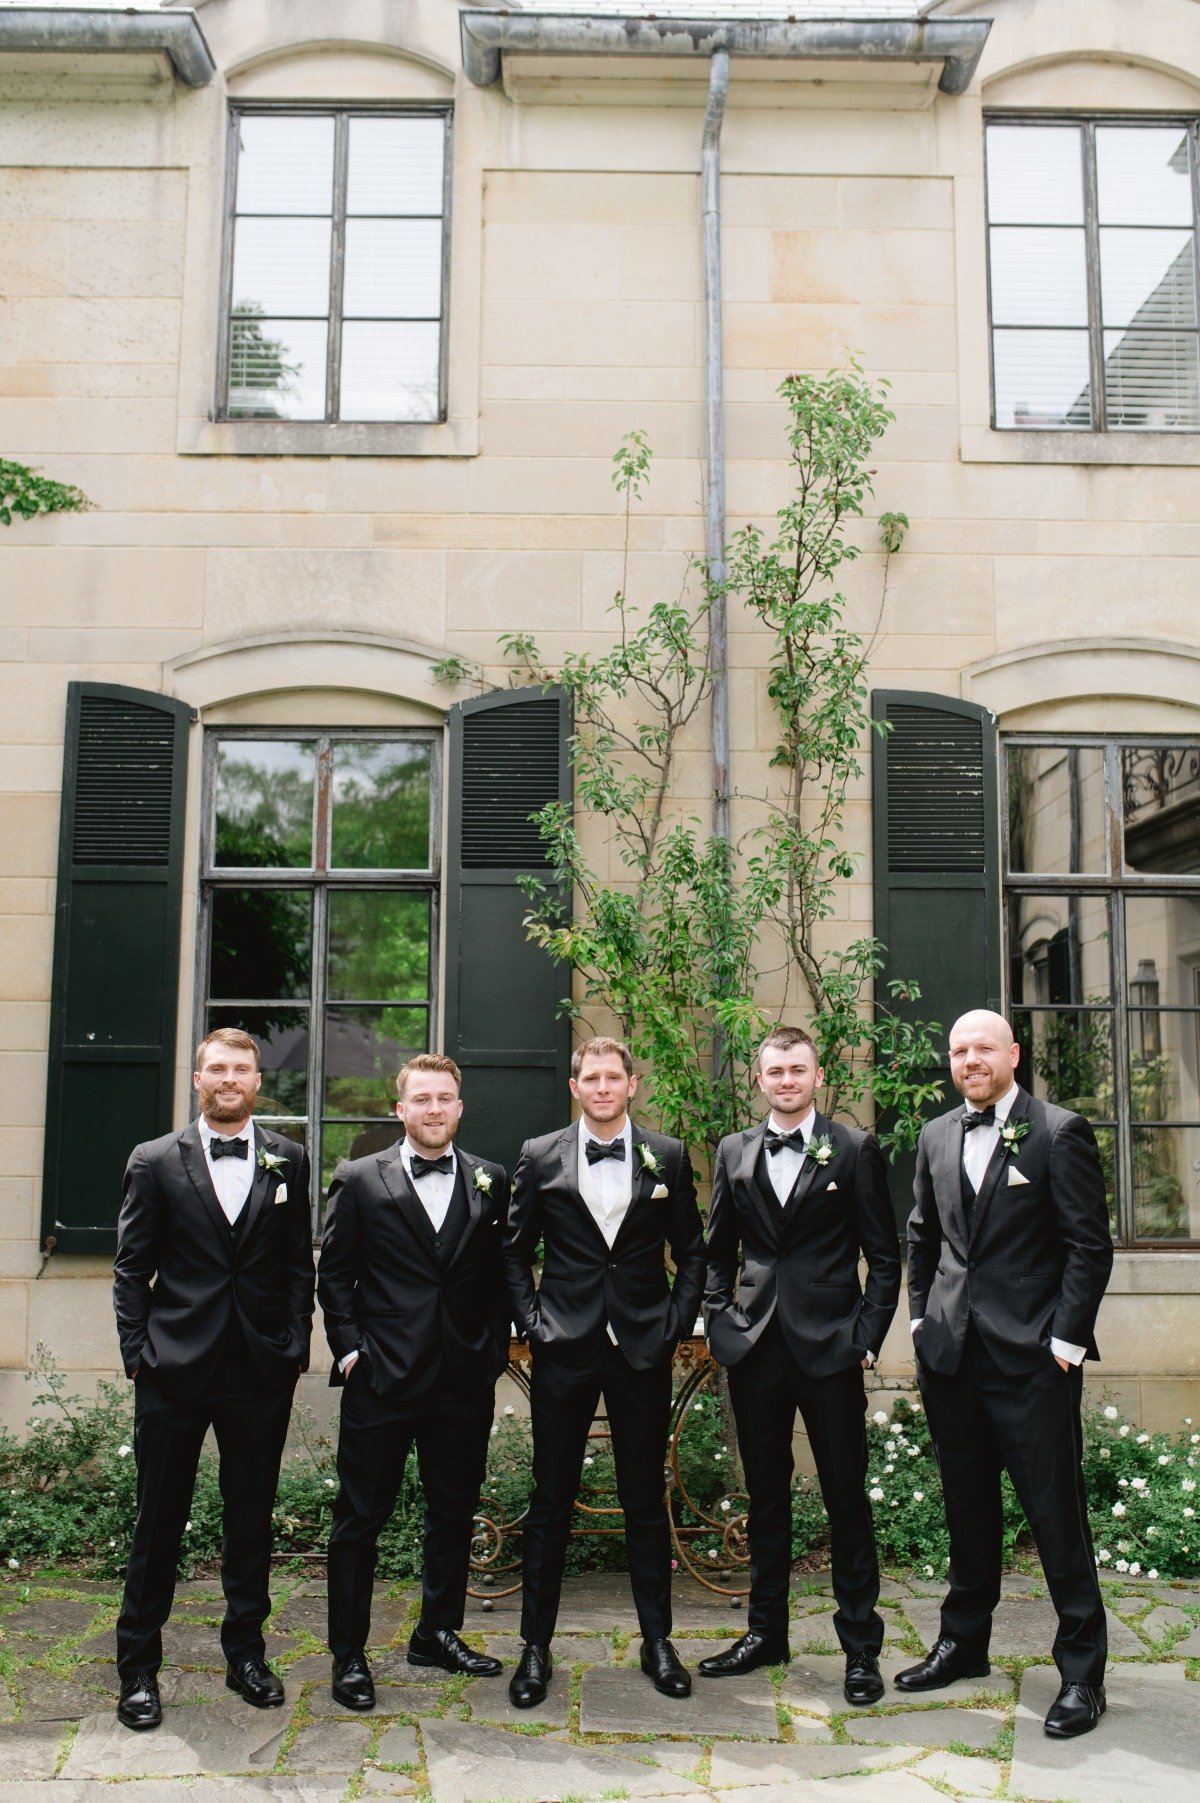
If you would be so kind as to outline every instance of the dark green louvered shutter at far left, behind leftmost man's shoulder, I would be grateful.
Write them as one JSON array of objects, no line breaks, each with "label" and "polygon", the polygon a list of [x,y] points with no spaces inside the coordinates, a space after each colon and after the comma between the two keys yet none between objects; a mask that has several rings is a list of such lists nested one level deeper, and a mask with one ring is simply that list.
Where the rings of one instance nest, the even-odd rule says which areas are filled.
[{"label": "dark green louvered shutter at far left, behind leftmost man's shoulder", "polygon": [[124,1161],[175,1082],[187,707],[68,683],[41,1231],[110,1251]]}]

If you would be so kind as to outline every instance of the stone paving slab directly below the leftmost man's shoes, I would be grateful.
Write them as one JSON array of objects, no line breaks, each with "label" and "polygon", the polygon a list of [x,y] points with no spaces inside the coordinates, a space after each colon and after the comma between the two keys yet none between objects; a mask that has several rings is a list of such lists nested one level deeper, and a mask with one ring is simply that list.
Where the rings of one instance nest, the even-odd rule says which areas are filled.
[{"label": "stone paving slab directly below the leftmost man's shoes", "polygon": [[63,1778],[186,1778],[191,1772],[247,1772],[254,1767],[270,1771],[286,1724],[286,1709],[178,1706],[164,1711],[162,1727],[153,1734],[135,1734],[115,1715],[92,1715],[79,1724]]}]

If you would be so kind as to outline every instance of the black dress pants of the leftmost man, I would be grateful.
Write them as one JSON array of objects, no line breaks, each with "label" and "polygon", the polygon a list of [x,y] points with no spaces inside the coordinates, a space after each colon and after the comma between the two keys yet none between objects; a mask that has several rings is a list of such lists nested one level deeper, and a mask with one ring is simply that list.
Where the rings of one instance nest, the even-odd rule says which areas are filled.
[{"label": "black dress pants of the leftmost man", "polygon": [[157,1671],[162,1625],[171,1614],[175,1569],[209,1426],[222,1487],[222,1648],[236,1662],[263,1657],[270,1614],[270,1513],[292,1414],[295,1377],[265,1383],[245,1359],[229,1359],[200,1396],[166,1396],[148,1365],[137,1374],[133,1451],[137,1522],[117,1617],[117,1670]]}]

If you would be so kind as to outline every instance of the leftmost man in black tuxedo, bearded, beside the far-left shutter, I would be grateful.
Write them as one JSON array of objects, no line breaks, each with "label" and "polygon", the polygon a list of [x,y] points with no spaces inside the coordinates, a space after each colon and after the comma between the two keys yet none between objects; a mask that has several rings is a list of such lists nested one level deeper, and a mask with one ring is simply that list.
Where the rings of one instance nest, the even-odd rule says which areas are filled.
[{"label": "leftmost man in black tuxedo, bearded, beside the far-left shutter", "polygon": [[220,1451],[225,1682],[283,1702],[267,1668],[270,1511],[292,1392],[308,1368],[308,1156],[250,1120],[261,1085],[249,1033],[196,1048],[200,1120],[139,1145],[124,1172],[114,1304],[135,1381],[137,1524],[117,1617],[117,1715],[162,1720],[157,1671],[204,1435]]}]

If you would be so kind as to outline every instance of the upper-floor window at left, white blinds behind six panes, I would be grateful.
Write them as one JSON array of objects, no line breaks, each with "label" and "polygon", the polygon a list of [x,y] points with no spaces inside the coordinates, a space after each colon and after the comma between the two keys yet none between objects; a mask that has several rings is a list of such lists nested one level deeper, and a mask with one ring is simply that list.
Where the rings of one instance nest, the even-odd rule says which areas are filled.
[{"label": "upper-floor window at left, white blinds behind six panes", "polygon": [[218,415],[445,416],[447,108],[234,108]]}]

